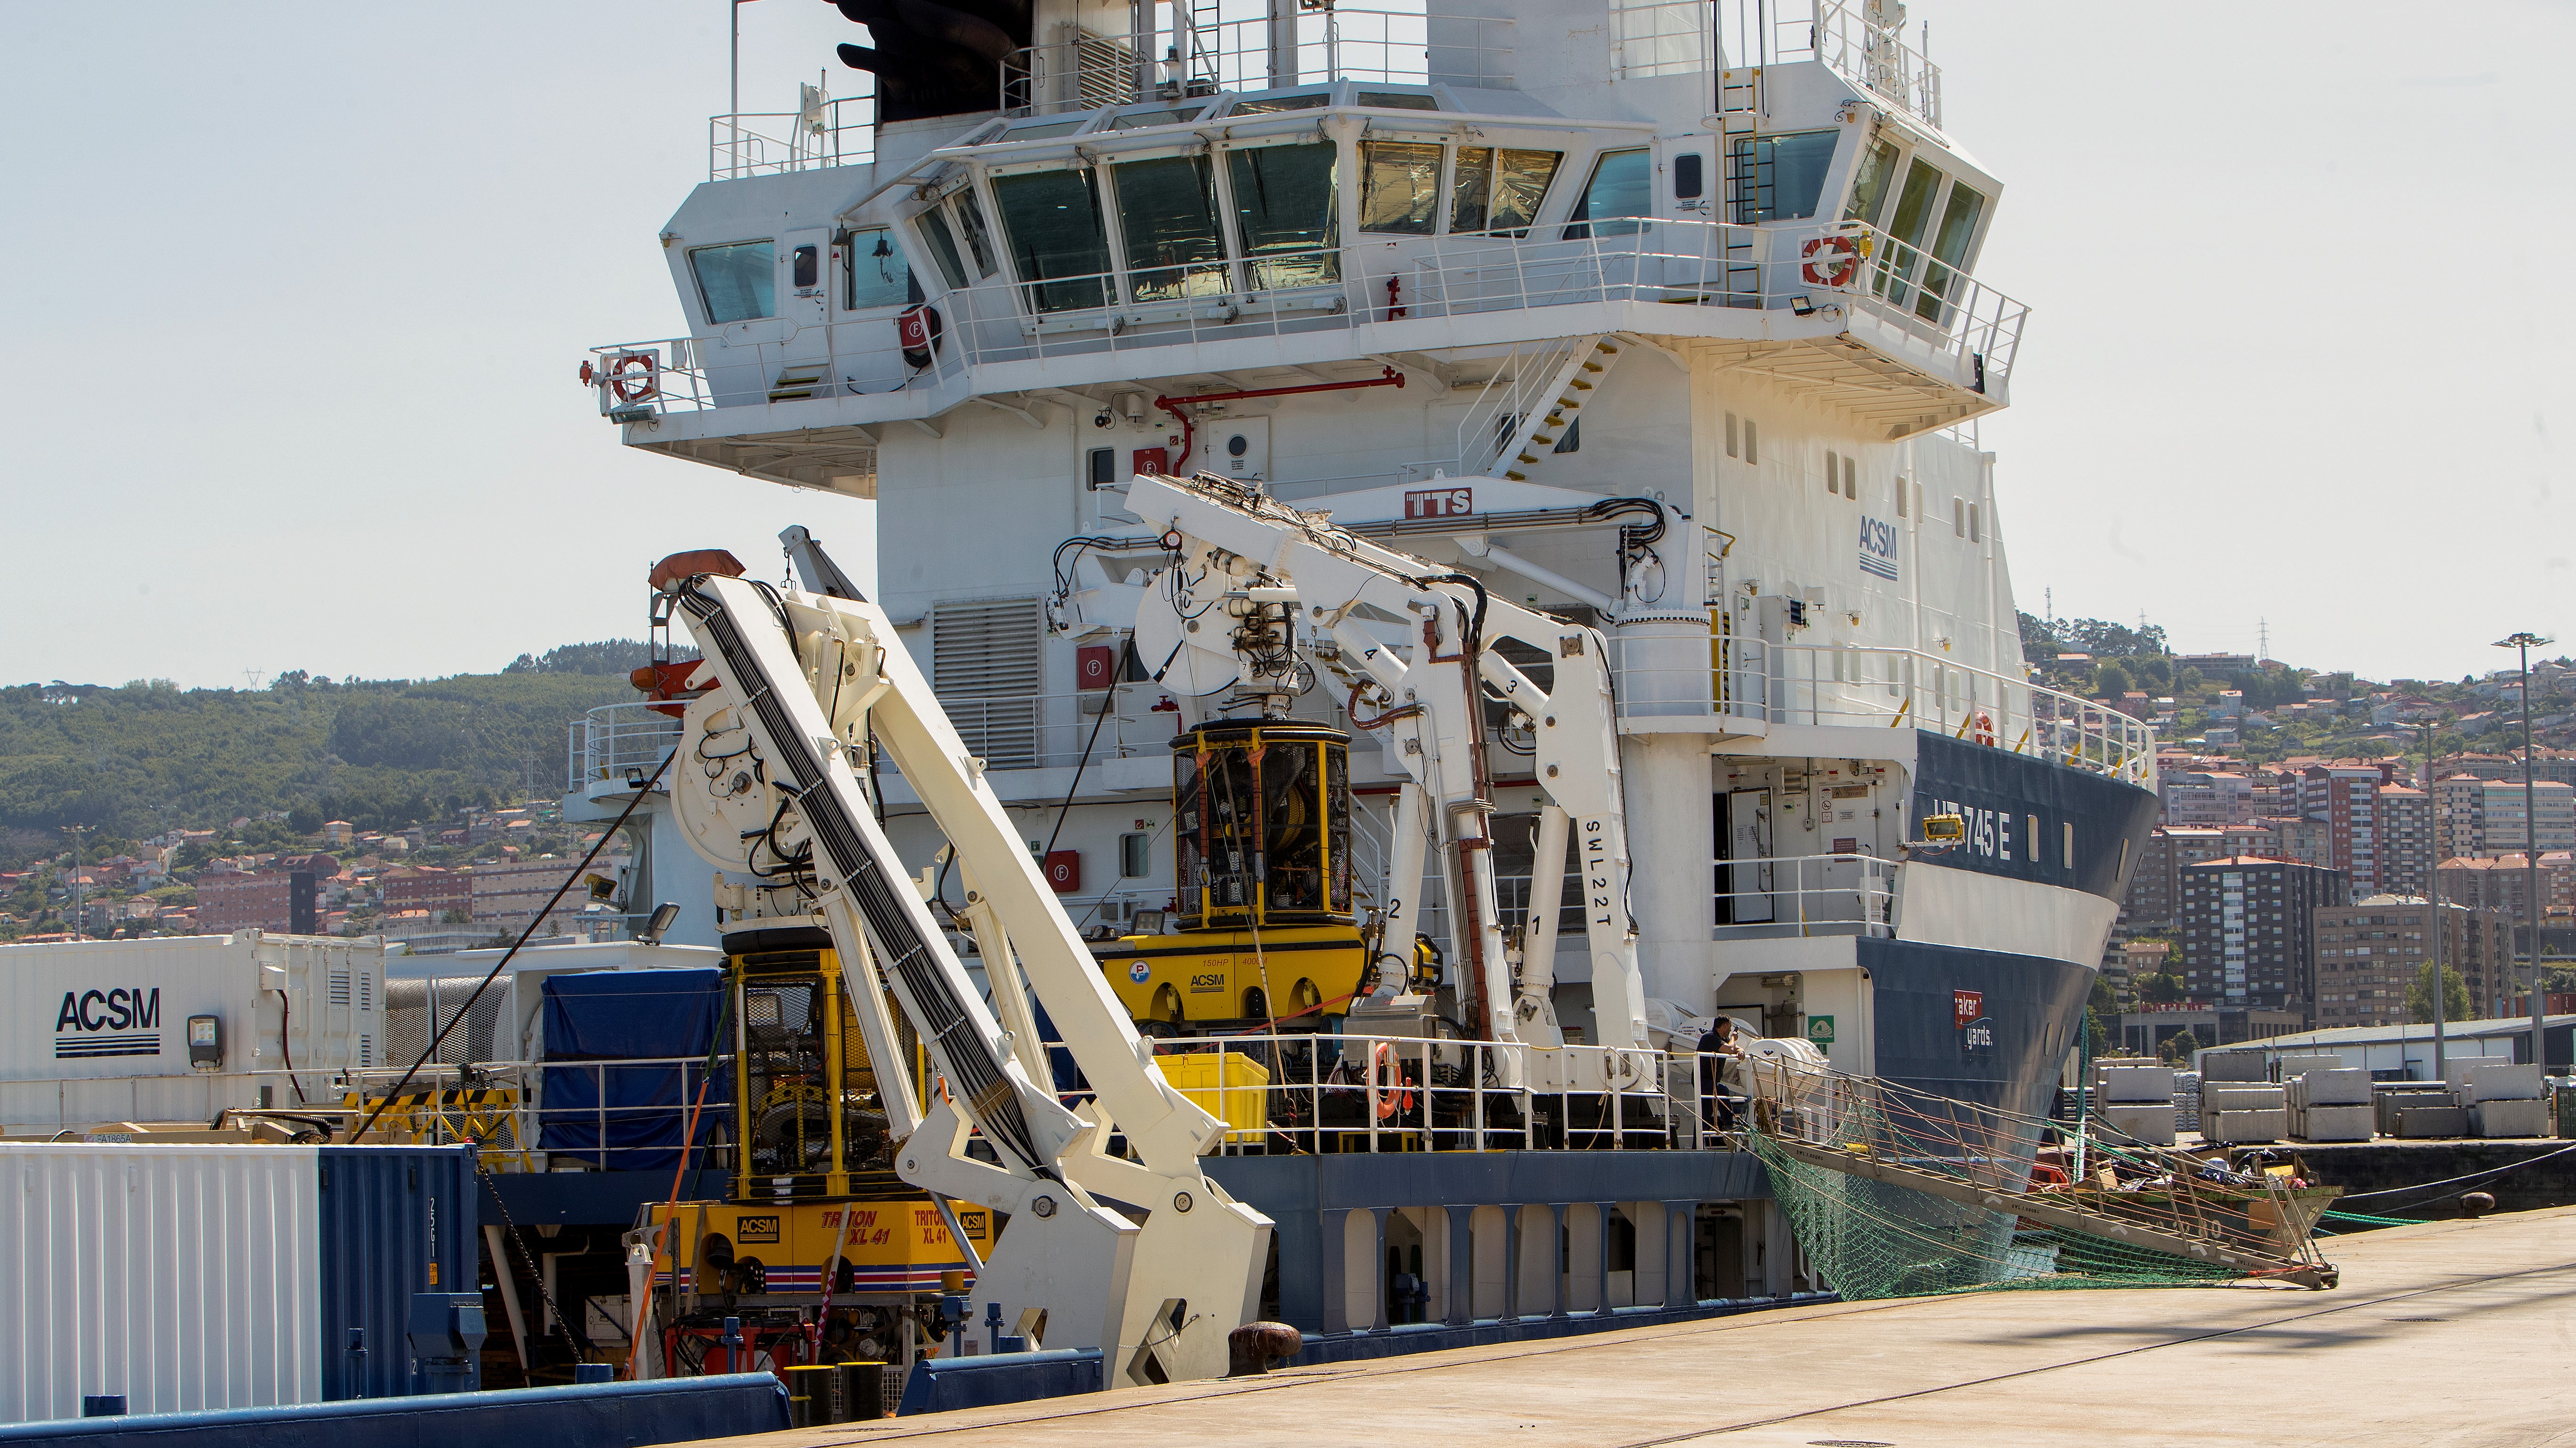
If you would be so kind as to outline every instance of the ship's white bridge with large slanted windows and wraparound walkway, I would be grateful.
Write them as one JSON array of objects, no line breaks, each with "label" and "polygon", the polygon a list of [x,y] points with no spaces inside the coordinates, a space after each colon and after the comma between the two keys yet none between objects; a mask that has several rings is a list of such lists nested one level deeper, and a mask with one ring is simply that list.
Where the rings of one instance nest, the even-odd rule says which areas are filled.
[{"label": "ship's white bridge with large slanted windows and wraparound walkway", "polygon": [[1002,64],[1002,113],[909,160],[848,103],[775,147],[724,116],[662,237],[690,332],[595,348],[585,379],[631,446],[853,495],[886,428],[969,405],[1492,389],[1605,335],[1886,441],[2009,402],[2027,312],[1973,271],[1999,186],[1899,8],[1728,33],[1734,5],[1610,0],[1610,85],[1569,80],[1597,64],[1548,39],[1566,8],[1492,10],[1381,15],[1370,44],[1358,10],[1056,26]]}]

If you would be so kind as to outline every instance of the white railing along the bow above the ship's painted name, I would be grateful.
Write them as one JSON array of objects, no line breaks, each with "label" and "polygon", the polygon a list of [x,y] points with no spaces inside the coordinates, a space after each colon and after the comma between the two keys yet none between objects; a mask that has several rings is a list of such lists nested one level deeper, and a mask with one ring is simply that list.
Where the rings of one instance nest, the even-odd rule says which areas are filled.
[{"label": "white railing along the bow above the ship's painted name", "polygon": [[1610,644],[1623,719],[1917,727],[2138,786],[2156,776],[2143,721],[1940,654],[1695,634]]}]

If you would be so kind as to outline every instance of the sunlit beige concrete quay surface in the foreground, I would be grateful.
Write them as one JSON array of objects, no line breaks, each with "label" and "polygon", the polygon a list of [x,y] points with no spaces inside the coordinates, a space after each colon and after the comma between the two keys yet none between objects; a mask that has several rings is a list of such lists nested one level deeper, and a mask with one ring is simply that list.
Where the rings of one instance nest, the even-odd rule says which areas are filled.
[{"label": "sunlit beige concrete quay surface in the foreground", "polygon": [[1814,1306],[732,1448],[2576,1445],[2576,1208],[2329,1244],[2344,1286]]}]

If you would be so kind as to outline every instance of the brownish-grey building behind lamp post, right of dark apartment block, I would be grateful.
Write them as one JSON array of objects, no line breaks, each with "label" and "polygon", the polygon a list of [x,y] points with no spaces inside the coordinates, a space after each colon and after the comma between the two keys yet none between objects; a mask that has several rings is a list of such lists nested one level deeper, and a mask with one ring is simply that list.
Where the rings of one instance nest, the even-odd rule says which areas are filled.
[{"label": "brownish-grey building behind lamp post, right of dark apartment block", "polygon": [[[2414,894],[2372,894],[2316,910],[2316,1025],[2398,1025],[2406,987],[2432,961],[2432,904]],[[2512,979],[2514,922],[2499,910],[2442,904],[2442,966],[2468,984],[2470,1010],[2496,1005]]]}]

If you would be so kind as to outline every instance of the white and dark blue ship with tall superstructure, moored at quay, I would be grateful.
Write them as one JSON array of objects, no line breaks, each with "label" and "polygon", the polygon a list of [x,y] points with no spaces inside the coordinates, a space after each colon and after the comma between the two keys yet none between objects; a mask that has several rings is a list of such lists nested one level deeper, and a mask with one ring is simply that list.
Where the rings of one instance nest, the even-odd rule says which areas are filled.
[{"label": "white and dark blue ship with tall superstructure, moored at quay", "polygon": [[[714,121],[711,178],[659,232],[688,335],[598,348],[600,412],[634,448],[876,500],[878,603],[1100,938],[1190,915],[1172,737],[1242,714],[1234,675],[1131,636],[1175,562],[1131,479],[1216,474],[1610,642],[1643,1013],[1597,982],[1584,881],[1540,861],[1525,739],[1510,716],[1489,739],[1492,886],[1520,976],[1553,982],[1540,1046],[1687,1049],[1728,1015],[2045,1113],[2156,814],[2154,737],[2022,667],[1976,420],[2012,399],[2025,307],[1976,271],[2002,180],[1945,129],[1942,72],[1891,0],[1432,5],[881,15],[853,49],[881,108]],[[835,533],[829,497],[809,520]],[[1458,866],[1388,879],[1422,858],[1399,729],[1311,670],[1285,693],[1352,734],[1360,907],[1466,961]],[[667,750],[641,709],[577,737],[582,806],[613,814]],[[935,871],[907,801],[881,778]],[[714,940],[685,858],[649,850],[639,897]],[[1301,987],[1234,1015],[1283,1000]],[[1229,1190],[1262,1201],[1252,1162]],[[1332,1170],[1303,1221],[1265,1203],[1280,1311],[1368,1327],[1378,1293],[1386,1324],[1391,1275],[1345,1270],[1373,1198]],[[1595,1306],[1669,1304],[1638,1283],[1680,1270],[1682,1219],[1723,1257],[1723,1183],[1600,1170],[1510,1198],[1553,1201],[1577,1255],[1631,1221],[1633,1281],[1605,1265]],[[1409,1232],[1417,1275],[1458,1252],[1481,1283],[1484,1229],[1443,1208],[1502,1188],[1414,1177],[1376,1244]],[[1790,1252],[1749,1268],[1747,1232],[1700,1286],[1798,1286]],[[1481,1293],[1425,1311],[1471,1322]]]}]

